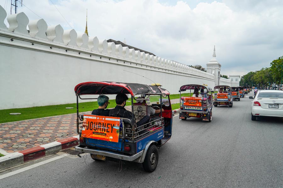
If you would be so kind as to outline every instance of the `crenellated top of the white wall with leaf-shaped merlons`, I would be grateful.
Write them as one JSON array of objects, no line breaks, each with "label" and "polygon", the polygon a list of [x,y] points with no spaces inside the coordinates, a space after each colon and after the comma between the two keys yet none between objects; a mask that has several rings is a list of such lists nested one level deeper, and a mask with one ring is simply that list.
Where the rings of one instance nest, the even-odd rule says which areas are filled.
[{"label": "crenellated top of the white wall with leaf-shaped merlons", "polygon": [[[66,48],[73,51],[82,51],[86,54],[96,55],[100,58],[95,58],[96,61],[101,60],[101,57],[107,59],[115,59],[134,62],[136,65],[143,65],[148,69],[154,68],[158,71],[174,72],[175,74],[199,76],[204,79],[214,80],[214,75],[191,68],[187,65],[166,60],[157,56],[140,52],[139,50],[122,47],[106,40],[98,39],[97,37],[88,37],[85,33],[76,32],[74,29],[64,30],[61,25],[47,26],[44,19],[29,20],[25,13],[17,13],[8,15],[7,20],[9,27],[4,24],[7,16],[4,8],[0,6],[0,32],[2,36],[9,33],[9,36],[15,35],[14,38],[31,41],[32,43],[45,44],[50,43],[50,46],[58,44],[60,48]],[[28,30],[26,29],[28,27]],[[34,40],[36,39],[36,40]],[[59,47],[58,47],[59,49]],[[53,49],[54,51],[56,48]],[[61,50],[62,51],[62,50]]]}]

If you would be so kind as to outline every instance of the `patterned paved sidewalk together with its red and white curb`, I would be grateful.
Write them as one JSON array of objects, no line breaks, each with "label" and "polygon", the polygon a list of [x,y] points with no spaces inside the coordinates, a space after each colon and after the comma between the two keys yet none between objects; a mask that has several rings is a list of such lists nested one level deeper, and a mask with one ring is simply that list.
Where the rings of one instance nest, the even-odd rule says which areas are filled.
[{"label": "patterned paved sidewalk together with its red and white curb", "polygon": [[[171,104],[180,99],[170,100]],[[131,106],[126,107],[131,111]],[[175,111],[176,113],[177,111]],[[80,114],[91,114],[80,112]],[[0,124],[0,170],[79,143],[76,113]]]}]

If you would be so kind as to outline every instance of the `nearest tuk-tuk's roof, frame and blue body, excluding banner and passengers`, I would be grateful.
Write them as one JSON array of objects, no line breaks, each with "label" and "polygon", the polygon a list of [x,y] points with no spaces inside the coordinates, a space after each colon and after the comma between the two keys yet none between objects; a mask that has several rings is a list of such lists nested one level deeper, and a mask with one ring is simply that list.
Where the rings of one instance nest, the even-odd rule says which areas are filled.
[{"label": "nearest tuk-tuk's roof, frame and blue body, excluding banner and passengers", "polygon": [[[113,91],[112,91],[113,89]],[[170,138],[172,133],[172,108],[169,98],[169,92],[161,87],[148,86],[143,84],[134,83],[116,83],[116,82],[84,82],[75,87],[76,100],[77,100],[77,132],[80,135],[80,145],[75,147],[76,151],[90,153],[94,160],[105,159],[122,159],[127,161],[134,161],[142,163],[144,170],[152,172],[155,170],[157,162],[152,165],[152,158],[146,156],[158,155],[157,147],[165,144]],[[162,97],[168,97],[169,106],[164,108],[164,115],[162,110],[160,112],[160,118],[154,118],[153,121],[137,127],[134,114],[131,119],[121,118],[123,126],[120,126],[120,134],[118,143],[111,141],[99,140],[94,138],[84,138],[81,136],[79,125],[82,123],[82,118],[79,114],[79,98],[82,95],[112,95],[118,93],[125,93],[131,95],[131,109],[134,112],[134,99],[136,95],[159,95],[160,109],[163,107]],[[87,98],[97,99],[97,98]],[[166,118],[166,123],[165,123]],[[80,121],[79,121],[80,120]],[[127,125],[127,128],[126,128]],[[129,125],[129,127],[128,127]],[[82,127],[81,127],[82,128]],[[115,145],[116,144],[116,145]],[[130,147],[130,150],[126,150],[126,147]],[[154,152],[153,152],[154,151]],[[153,152],[146,155],[148,152]],[[107,158],[108,157],[108,158]],[[157,157],[158,158],[158,157]]]}]

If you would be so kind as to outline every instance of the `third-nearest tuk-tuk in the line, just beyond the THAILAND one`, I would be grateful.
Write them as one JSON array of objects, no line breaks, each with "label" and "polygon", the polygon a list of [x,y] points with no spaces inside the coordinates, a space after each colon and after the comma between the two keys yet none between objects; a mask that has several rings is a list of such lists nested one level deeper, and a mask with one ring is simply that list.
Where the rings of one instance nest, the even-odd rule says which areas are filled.
[{"label": "third-nearest tuk-tuk in the line, just beyond the THAILAND one", "polygon": [[232,88],[230,86],[215,86],[213,105],[228,105],[233,107],[233,98],[231,96]]}]

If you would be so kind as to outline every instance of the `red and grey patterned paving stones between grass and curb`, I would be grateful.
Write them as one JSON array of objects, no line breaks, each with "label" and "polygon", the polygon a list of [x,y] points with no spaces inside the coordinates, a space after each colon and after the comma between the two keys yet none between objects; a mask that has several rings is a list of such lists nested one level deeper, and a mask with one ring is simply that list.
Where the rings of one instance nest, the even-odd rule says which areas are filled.
[{"label": "red and grey patterned paving stones between grass and curb", "polygon": [[[172,99],[171,103],[178,103]],[[126,107],[131,111],[131,106]],[[91,114],[80,112],[80,114]],[[78,135],[76,113],[0,124],[0,149],[8,153]]]}]

